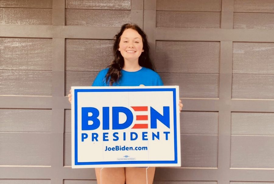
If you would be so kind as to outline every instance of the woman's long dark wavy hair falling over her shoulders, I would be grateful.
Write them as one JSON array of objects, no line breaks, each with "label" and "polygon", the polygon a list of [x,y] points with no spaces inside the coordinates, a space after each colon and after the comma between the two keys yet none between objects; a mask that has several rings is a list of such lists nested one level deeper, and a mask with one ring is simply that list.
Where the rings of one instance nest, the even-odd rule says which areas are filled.
[{"label": "woman's long dark wavy hair falling over her shoulders", "polygon": [[121,70],[124,68],[124,58],[121,55],[119,49],[119,43],[121,40],[121,35],[126,29],[133,29],[136,30],[142,37],[143,42],[143,50],[142,54],[139,57],[138,63],[141,67],[149,68],[155,71],[154,65],[149,57],[149,44],[146,39],[146,33],[137,26],[136,24],[127,23],[121,26],[121,30],[118,34],[114,36],[114,45],[113,45],[113,54],[114,60],[112,61],[111,65],[108,66],[109,70],[106,75],[106,83],[112,86],[115,82],[118,82],[122,76]]}]

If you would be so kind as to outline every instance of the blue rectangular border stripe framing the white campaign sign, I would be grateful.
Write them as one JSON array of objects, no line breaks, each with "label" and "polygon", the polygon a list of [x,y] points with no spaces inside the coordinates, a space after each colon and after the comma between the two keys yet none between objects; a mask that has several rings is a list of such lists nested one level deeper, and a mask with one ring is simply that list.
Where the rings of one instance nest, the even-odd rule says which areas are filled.
[{"label": "blue rectangular border stripe framing the white campaign sign", "polygon": [[[77,100],[78,100],[78,92],[140,92],[140,91],[172,91],[173,92],[173,118],[174,118],[174,160],[159,160],[159,161],[100,161],[100,162],[78,162],[78,141],[77,141],[77,124],[78,124],[78,111],[77,111]],[[74,138],[74,161],[75,165],[104,165],[104,164],[177,164],[177,103],[176,99],[176,89],[175,88],[149,88],[149,89],[75,89],[74,90],[74,131],[75,131],[75,138]]]}]

